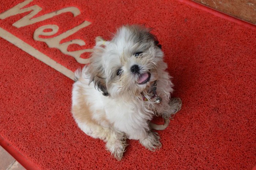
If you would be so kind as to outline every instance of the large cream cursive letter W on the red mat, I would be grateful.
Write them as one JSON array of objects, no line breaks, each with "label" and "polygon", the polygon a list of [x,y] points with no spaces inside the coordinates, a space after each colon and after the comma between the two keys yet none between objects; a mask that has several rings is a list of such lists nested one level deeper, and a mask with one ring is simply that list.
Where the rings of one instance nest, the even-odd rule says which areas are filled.
[{"label": "large cream cursive letter W on the red mat", "polygon": [[[0,19],[5,19],[5,18],[10,17],[10,16],[14,16],[14,15],[17,15],[17,14],[20,14],[20,13],[31,11],[28,15],[24,16],[22,19],[16,21],[14,24],[12,24],[13,26],[15,26],[17,28],[20,28],[20,27],[25,27],[27,25],[31,25],[31,24],[34,24],[34,23],[37,23],[37,22],[40,22],[40,21],[44,21],[46,19],[49,19],[49,18],[51,18],[53,16],[56,16],[56,15],[60,15],[61,13],[65,13],[65,12],[73,13],[74,17],[80,14],[80,11],[79,11],[78,8],[76,8],[76,7],[67,7],[67,8],[63,8],[63,9],[60,9],[58,11],[47,13],[45,15],[42,15],[42,16],[31,19],[32,17],[37,15],[38,12],[40,12],[42,10],[42,8],[39,7],[38,5],[23,8],[27,4],[31,3],[32,1],[33,0],[25,0],[24,2],[16,5],[15,7],[1,13],[0,14]],[[23,8],[23,9],[21,9],[21,8]]]}]

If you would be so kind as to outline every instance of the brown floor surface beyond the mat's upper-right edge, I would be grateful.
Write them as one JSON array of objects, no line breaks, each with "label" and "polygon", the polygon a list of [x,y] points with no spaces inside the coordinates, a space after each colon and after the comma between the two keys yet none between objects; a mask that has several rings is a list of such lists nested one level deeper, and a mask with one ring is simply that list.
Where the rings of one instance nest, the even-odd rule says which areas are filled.
[{"label": "brown floor surface beyond the mat's upper-right edge", "polygon": [[241,20],[256,24],[256,0],[193,0]]}]

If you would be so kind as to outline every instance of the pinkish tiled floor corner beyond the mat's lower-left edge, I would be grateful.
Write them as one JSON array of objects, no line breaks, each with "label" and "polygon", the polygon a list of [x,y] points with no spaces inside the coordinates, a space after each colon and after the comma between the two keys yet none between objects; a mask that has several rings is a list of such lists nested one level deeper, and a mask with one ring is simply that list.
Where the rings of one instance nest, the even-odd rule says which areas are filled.
[{"label": "pinkish tiled floor corner beyond the mat's lower-left edge", "polygon": [[25,170],[25,168],[0,146],[0,170]]}]

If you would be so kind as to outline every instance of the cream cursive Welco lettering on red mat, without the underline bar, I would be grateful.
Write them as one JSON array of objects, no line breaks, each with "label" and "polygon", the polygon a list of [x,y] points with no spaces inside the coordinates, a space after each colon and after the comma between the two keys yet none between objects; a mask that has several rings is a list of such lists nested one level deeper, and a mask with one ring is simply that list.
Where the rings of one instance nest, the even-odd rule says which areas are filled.
[{"label": "cream cursive Welco lettering on red mat, without the underline bar", "polygon": [[[40,21],[44,21],[44,20],[52,18],[56,15],[60,15],[61,13],[71,12],[74,15],[74,17],[80,15],[80,11],[78,8],[67,7],[67,8],[63,8],[58,11],[47,13],[45,15],[38,16],[38,17],[31,19],[32,17],[37,15],[42,10],[42,8],[39,7],[38,5],[33,5],[31,7],[23,8],[26,5],[28,5],[29,3],[31,3],[32,1],[33,0],[25,0],[22,3],[12,7],[11,9],[8,9],[7,11],[0,14],[0,19],[5,19],[10,16],[14,16],[14,15],[17,15],[20,13],[31,11],[29,14],[24,16],[22,19],[20,19],[12,24],[14,27],[20,28],[20,27],[25,27],[27,25],[31,25],[31,24],[34,24],[34,23],[37,23]],[[91,52],[92,49],[89,48],[89,49],[78,50],[78,51],[68,51],[67,50],[68,46],[71,44],[78,44],[79,46],[84,46],[85,42],[83,40],[75,39],[75,40],[71,40],[69,42],[65,42],[62,44],[60,44],[60,41],[63,40],[64,38],[74,34],[75,32],[79,31],[80,29],[87,27],[90,24],[91,23],[89,21],[84,21],[82,24],[80,24],[80,25],[78,25],[78,26],[56,36],[56,37],[42,39],[42,38],[39,38],[40,35],[45,35],[45,36],[54,35],[59,30],[59,27],[57,25],[44,25],[35,30],[34,40],[45,42],[48,45],[48,47],[58,48],[64,54],[74,57],[77,62],[79,62],[81,64],[86,64],[86,63],[88,63],[88,59],[82,59],[82,58],[80,58],[80,56],[84,52]],[[52,31],[44,32],[44,29],[48,29],[48,28],[52,29]]]}]

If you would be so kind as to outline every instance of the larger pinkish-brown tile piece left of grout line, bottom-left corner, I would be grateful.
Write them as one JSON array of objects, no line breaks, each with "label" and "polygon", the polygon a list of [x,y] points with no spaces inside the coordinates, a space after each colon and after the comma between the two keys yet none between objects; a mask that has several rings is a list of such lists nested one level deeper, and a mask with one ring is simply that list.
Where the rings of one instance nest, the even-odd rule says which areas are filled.
[{"label": "larger pinkish-brown tile piece left of grout line, bottom-left corner", "polygon": [[0,146],[0,170],[6,170],[15,159]]}]

